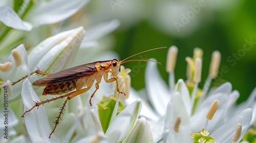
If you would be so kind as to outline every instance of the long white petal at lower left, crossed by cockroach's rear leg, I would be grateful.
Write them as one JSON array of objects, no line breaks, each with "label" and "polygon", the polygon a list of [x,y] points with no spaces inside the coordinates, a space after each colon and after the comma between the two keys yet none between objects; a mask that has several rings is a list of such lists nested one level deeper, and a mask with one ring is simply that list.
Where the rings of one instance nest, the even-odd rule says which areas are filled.
[{"label": "long white petal at lower left, crossed by cockroach's rear leg", "polygon": [[[24,104],[24,111],[27,111],[34,106],[33,101],[40,101],[28,79],[26,79],[23,83],[22,100]],[[54,134],[52,134],[51,139],[48,138],[52,129],[43,106],[40,106],[37,110],[31,110],[24,116],[26,128],[32,142],[41,140],[46,142],[58,142],[58,139]]]}]

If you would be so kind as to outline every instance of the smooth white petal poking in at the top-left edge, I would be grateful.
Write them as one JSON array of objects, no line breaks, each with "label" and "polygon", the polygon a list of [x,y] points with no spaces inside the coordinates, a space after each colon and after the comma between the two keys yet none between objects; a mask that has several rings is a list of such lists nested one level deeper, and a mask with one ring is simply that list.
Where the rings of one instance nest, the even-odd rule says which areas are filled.
[{"label": "smooth white petal poking in at the top-left edge", "polygon": [[29,22],[25,22],[19,18],[19,16],[9,7],[0,7],[0,21],[6,26],[18,29],[30,31],[33,26]]}]

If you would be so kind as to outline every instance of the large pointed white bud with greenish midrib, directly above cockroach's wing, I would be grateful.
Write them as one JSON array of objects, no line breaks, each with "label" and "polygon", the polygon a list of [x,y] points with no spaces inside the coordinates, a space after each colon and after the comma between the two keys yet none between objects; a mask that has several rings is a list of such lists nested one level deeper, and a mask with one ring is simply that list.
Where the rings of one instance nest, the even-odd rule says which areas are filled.
[{"label": "large pointed white bud with greenish midrib, directly above cockroach's wing", "polygon": [[[56,73],[71,66],[84,36],[83,27],[61,32],[39,43],[29,54],[30,65],[36,70]],[[33,75],[36,79],[36,76]]]}]

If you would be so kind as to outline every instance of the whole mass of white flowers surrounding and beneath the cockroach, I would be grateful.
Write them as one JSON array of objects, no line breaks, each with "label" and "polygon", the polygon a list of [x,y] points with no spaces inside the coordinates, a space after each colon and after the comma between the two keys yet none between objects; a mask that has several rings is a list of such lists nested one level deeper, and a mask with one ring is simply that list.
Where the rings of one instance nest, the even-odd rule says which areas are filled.
[{"label": "whole mass of white flowers surrounding and beneath the cockroach", "polygon": [[[169,86],[161,79],[156,63],[148,62],[146,92],[138,93],[131,88],[131,69],[120,66],[118,88],[126,96],[116,91],[115,83],[101,82],[89,106],[95,90],[92,86],[88,92],[65,103],[65,108],[61,108],[65,109],[61,111],[63,115],[60,114],[63,120],[55,128],[52,120],[64,101],[60,97],[36,107],[35,103],[52,96],[38,96],[42,88],[32,87],[31,83],[41,76],[33,74],[34,71],[39,68],[56,73],[97,56],[113,59],[115,54],[101,52],[104,50],[98,48],[98,39],[115,30],[119,22],[100,23],[86,31],[81,26],[59,27],[51,31],[55,33],[53,36],[42,34],[36,38],[38,31],[46,30],[42,25],[53,27],[53,23],[74,15],[89,1],[22,1],[21,4],[14,1],[13,8],[8,2],[0,7],[0,20],[4,23],[0,35],[0,54],[4,58],[0,59],[0,94],[7,92],[3,87],[8,87],[9,134],[7,140],[2,133],[5,118],[1,115],[0,142],[239,142],[256,120],[256,88],[240,105],[235,105],[239,92],[232,91],[230,83],[210,88],[218,74],[221,57],[218,51],[212,54],[209,76],[200,89],[203,51],[196,48],[194,57],[185,59],[187,80],[175,83],[178,49],[172,46],[166,66]],[[56,5],[59,7],[53,9]],[[27,36],[24,31],[37,35]],[[28,39],[30,49],[20,44]],[[18,46],[10,49],[14,45]],[[0,98],[0,112],[4,113],[4,96]],[[28,110],[24,118],[19,117]]]}]

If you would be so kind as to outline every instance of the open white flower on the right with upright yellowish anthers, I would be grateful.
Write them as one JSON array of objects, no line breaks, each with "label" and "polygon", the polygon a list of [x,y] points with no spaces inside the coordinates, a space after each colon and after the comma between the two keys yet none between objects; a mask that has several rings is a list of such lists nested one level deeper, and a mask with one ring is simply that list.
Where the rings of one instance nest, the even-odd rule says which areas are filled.
[{"label": "open white flower on the right with upright yellowish anthers", "polygon": [[[176,49],[176,47],[171,47],[171,49]],[[255,103],[255,90],[252,92],[249,100],[245,104],[239,105],[238,108],[234,108],[234,103],[239,97],[239,92],[236,90],[231,91],[232,87],[230,83],[225,83],[213,92],[206,94],[205,97],[200,98],[202,94],[208,92],[211,79],[216,77],[217,73],[214,71],[218,71],[218,62],[212,62],[212,64],[217,64],[217,66],[211,69],[214,71],[210,71],[209,78],[206,81],[208,85],[205,85],[203,90],[201,90],[197,87],[201,81],[201,71],[197,70],[201,70],[200,65],[198,65],[200,62],[198,61],[202,57],[202,51],[196,49],[194,53],[194,59],[186,58],[189,65],[188,70],[191,72],[187,73],[188,80],[186,83],[180,79],[175,85],[172,83],[174,80],[170,79],[169,88],[160,78],[156,63],[147,63],[145,83],[148,99],[145,101],[149,100],[153,109],[146,102],[143,103],[142,100],[143,107],[141,115],[150,120],[155,141],[191,142],[193,139],[191,139],[190,133],[197,133],[205,128],[210,133],[209,136],[214,137],[216,142],[233,142],[232,137],[234,137],[238,124],[242,125],[241,135],[238,136],[238,141],[241,140],[250,122],[253,123],[255,121],[252,118],[256,114],[255,105],[252,104]],[[219,59],[214,60],[218,61]],[[175,60],[173,61],[175,62]],[[170,78],[174,78],[175,64],[170,63],[170,65],[173,66],[169,70]],[[199,74],[196,74],[197,72]],[[191,75],[194,75],[194,77]],[[196,76],[198,77],[195,78]],[[207,112],[215,100],[218,100],[218,109],[215,113],[211,114],[213,116],[212,119],[207,119]],[[174,127],[177,126],[177,116],[181,118],[178,133],[174,131]]]}]

